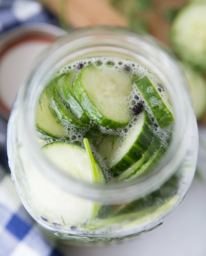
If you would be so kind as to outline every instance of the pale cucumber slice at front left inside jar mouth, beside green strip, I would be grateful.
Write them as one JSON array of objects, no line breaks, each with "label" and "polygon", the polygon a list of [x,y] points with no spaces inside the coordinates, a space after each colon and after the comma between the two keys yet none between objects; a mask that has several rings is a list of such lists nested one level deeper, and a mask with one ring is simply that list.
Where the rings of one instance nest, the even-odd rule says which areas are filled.
[{"label": "pale cucumber slice at front left inside jar mouth, beside green strip", "polygon": [[105,175],[94,160],[95,179],[85,148],[68,142],[51,142],[42,147],[45,156],[62,172],[89,183],[104,183]]}]

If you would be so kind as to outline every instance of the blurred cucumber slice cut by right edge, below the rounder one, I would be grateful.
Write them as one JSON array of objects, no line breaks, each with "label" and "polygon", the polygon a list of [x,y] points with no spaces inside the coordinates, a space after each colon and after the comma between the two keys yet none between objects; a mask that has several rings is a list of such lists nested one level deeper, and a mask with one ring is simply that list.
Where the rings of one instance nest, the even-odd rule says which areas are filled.
[{"label": "blurred cucumber slice cut by right edge, below the rounder one", "polygon": [[188,65],[183,65],[188,81],[191,101],[197,120],[206,112],[206,80],[199,72]]}]

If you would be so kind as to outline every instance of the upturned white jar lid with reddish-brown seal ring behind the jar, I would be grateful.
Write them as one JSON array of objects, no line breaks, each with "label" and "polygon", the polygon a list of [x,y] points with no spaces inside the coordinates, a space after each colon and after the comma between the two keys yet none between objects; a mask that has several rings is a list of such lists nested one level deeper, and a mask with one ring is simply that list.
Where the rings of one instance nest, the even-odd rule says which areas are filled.
[{"label": "upturned white jar lid with reddish-brown seal ring behind the jar", "polygon": [[0,116],[8,119],[21,82],[36,56],[65,31],[49,24],[14,28],[0,36]]}]

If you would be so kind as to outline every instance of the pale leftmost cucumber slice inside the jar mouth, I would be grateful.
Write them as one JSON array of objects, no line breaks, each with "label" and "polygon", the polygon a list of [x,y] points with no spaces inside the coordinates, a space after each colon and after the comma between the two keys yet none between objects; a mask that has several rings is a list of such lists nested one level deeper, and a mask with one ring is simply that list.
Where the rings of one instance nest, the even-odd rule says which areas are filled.
[{"label": "pale leftmost cucumber slice inside the jar mouth", "polygon": [[43,133],[55,138],[68,137],[67,131],[57,122],[49,110],[50,97],[47,90],[41,94],[36,110],[36,126]]}]

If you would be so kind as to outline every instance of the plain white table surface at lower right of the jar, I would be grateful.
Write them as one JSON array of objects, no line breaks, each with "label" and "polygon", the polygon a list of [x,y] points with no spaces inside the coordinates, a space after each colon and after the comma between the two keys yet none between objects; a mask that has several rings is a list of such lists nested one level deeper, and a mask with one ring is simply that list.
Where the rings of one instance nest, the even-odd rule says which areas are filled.
[{"label": "plain white table surface at lower right of the jar", "polygon": [[[65,256],[205,256],[206,255],[206,129],[200,129],[198,169],[181,205],[164,223],[148,233],[101,247],[62,246]],[[202,143],[203,141],[203,143]],[[205,148],[205,149],[204,149]]]}]

